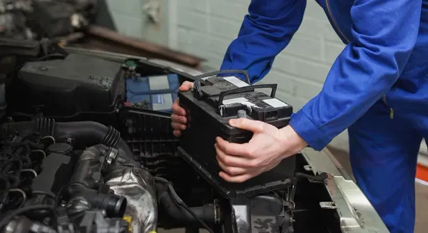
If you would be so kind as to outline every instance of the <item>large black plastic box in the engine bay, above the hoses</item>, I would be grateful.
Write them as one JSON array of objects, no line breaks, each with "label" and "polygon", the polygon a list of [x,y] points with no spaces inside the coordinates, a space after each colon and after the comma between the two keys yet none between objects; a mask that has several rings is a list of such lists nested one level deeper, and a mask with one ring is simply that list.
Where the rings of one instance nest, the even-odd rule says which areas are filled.
[{"label": "large black plastic box in the engine bay, above the hoses", "polygon": [[81,54],[26,63],[18,82],[20,111],[49,116],[111,113],[125,93],[120,63]]}]

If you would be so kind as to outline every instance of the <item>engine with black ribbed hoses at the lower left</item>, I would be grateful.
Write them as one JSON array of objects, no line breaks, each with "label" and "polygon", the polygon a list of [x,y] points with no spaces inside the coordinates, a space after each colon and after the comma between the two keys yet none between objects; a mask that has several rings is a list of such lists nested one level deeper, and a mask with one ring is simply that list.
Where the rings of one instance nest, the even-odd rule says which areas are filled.
[{"label": "engine with black ribbed hoses at the lower left", "polygon": [[[156,227],[156,196],[147,180],[151,175],[130,158],[129,147],[114,128],[39,118],[4,123],[0,138],[0,228],[16,233],[128,232],[128,209],[135,210],[128,216],[141,219],[134,228]],[[146,193],[140,199],[152,200],[151,209],[128,204],[135,200],[122,191],[123,185],[131,185],[123,179],[129,170],[139,171],[139,180],[132,182],[147,184],[140,185]],[[117,180],[121,184],[113,182],[111,189],[107,182]]]}]

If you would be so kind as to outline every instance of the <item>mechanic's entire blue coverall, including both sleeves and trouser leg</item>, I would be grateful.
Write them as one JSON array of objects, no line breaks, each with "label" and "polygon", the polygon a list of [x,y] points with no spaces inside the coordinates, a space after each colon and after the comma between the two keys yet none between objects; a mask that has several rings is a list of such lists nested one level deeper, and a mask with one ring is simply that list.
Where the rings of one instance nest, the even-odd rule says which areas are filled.
[{"label": "mechanic's entire blue coverall, including both sleeves and trouser leg", "polygon": [[[349,128],[357,184],[390,232],[413,232],[417,154],[428,138],[428,0],[317,2],[347,45],[290,125],[315,150]],[[297,31],[305,6],[252,0],[221,69],[247,69],[259,81]]]}]

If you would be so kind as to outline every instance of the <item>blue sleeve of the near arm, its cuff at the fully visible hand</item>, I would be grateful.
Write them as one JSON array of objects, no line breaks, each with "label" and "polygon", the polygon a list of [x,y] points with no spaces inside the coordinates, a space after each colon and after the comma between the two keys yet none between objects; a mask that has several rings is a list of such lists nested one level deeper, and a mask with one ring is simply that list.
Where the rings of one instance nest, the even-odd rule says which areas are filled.
[{"label": "blue sleeve of the near arm, its cuff at the fully visible hand", "polygon": [[322,150],[393,86],[417,40],[422,0],[356,0],[352,42],[321,92],[292,115],[291,127]]}]

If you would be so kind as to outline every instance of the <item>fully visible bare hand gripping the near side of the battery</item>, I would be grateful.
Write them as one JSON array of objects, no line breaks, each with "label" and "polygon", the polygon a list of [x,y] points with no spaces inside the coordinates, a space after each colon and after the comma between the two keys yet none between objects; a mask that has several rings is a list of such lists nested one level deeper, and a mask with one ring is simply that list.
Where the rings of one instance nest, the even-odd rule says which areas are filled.
[{"label": "fully visible bare hand gripping the near side of the battery", "polygon": [[294,155],[307,145],[290,125],[278,129],[259,120],[232,119],[229,124],[253,132],[248,143],[229,143],[216,138],[220,177],[228,182],[244,182],[276,167],[281,160]]}]

